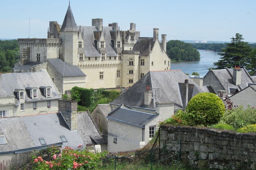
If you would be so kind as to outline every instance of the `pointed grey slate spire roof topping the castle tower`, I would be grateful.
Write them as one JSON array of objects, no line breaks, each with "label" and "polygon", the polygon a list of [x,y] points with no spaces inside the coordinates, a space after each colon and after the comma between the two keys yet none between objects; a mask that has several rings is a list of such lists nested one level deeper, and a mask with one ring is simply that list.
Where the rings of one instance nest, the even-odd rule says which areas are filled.
[{"label": "pointed grey slate spire roof topping the castle tower", "polygon": [[78,31],[77,24],[75,23],[75,19],[74,19],[74,16],[73,16],[73,13],[72,13],[72,10],[70,7],[70,3],[68,5],[68,9],[67,9],[67,12],[66,12],[66,15],[65,15],[65,18],[64,18],[64,21],[63,21],[60,31],[61,32],[64,32],[64,31],[77,32]]}]

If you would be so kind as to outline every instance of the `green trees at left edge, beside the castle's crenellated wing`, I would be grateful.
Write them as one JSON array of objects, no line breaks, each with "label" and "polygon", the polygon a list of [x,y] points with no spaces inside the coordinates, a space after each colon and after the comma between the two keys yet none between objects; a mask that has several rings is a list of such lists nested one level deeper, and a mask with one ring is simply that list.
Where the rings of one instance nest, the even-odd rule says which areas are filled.
[{"label": "green trees at left edge, beside the castle's crenellated wing", "polygon": [[0,40],[0,71],[10,71],[19,60],[18,40]]}]

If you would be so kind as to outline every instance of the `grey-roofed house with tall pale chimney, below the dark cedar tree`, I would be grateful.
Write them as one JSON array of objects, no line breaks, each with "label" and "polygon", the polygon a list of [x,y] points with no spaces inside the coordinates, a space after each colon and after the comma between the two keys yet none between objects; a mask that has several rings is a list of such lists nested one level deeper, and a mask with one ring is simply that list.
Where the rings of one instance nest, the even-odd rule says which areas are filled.
[{"label": "grey-roofed house with tall pale chimney, below the dark cedar tree", "polygon": [[221,70],[210,70],[203,78],[204,89],[218,95],[218,91],[226,91],[233,95],[249,85],[256,85],[245,68],[235,67]]}]

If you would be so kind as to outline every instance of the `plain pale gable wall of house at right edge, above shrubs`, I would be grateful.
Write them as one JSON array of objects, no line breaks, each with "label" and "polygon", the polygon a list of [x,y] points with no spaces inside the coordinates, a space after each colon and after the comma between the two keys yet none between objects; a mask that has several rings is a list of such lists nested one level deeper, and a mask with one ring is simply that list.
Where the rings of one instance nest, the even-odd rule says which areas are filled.
[{"label": "plain pale gable wall of house at right edge, above shrubs", "polygon": [[242,105],[243,108],[256,107],[256,86],[247,86],[236,94],[228,97],[233,105]]}]

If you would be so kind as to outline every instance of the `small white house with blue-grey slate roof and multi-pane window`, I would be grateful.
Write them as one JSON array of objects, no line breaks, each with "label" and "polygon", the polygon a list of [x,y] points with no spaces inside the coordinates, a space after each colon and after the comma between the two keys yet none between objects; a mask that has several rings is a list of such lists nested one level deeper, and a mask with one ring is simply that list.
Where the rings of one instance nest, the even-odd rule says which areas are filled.
[{"label": "small white house with blue-grey slate roof and multi-pane window", "polygon": [[133,110],[123,103],[108,116],[108,151],[136,150],[155,135],[159,121],[174,115],[174,102],[158,103],[156,113]]}]

